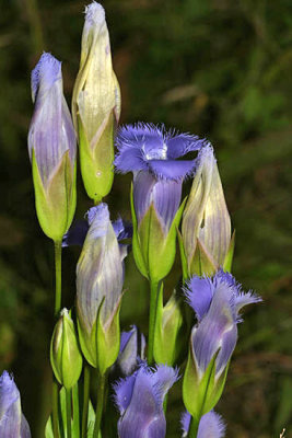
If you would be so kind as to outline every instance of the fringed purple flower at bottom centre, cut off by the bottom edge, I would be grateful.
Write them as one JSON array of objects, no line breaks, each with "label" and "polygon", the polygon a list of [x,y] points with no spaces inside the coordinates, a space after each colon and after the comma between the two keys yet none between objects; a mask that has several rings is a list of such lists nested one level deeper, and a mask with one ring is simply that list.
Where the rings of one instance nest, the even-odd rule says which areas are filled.
[{"label": "fringed purple flower at bottom centre, cut off by the bottom edge", "polygon": [[177,370],[142,365],[132,376],[115,384],[115,399],[120,413],[119,438],[164,438],[166,420],[163,401],[178,379]]}]

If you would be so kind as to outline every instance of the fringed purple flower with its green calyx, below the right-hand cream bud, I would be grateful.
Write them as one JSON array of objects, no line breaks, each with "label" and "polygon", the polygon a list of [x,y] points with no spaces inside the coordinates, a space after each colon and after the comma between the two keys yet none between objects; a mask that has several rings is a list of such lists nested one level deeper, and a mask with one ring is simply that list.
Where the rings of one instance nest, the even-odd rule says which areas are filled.
[{"label": "fringed purple flower with its green calyx, below the right-hand cream bud", "polygon": [[199,419],[199,413],[211,411],[223,391],[241,309],[260,298],[250,291],[244,293],[235,278],[222,269],[212,279],[192,277],[185,293],[198,324],[190,336],[183,394],[188,412]]}]

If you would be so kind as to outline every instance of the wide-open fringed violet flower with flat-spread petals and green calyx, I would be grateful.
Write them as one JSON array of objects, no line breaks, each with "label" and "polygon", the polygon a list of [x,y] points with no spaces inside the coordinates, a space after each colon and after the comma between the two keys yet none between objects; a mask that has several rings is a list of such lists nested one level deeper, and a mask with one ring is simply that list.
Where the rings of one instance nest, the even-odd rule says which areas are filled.
[{"label": "wide-open fringed violet flower with flat-spread petals and green calyx", "polygon": [[188,134],[173,135],[164,128],[139,123],[122,127],[117,136],[118,172],[133,173],[133,255],[147,278],[165,277],[175,257],[175,237],[184,206],[182,185],[196,166],[196,159],[182,160],[198,151],[205,140]]}]

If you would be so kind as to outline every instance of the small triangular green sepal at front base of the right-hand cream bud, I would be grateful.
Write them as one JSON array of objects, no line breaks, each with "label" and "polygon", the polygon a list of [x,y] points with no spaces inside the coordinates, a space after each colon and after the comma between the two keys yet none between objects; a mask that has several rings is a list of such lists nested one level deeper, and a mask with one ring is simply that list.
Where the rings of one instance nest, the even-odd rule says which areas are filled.
[{"label": "small triangular green sepal at front base of the right-hand cream bud", "polygon": [[206,247],[197,239],[196,250],[189,264],[189,276],[208,275],[212,276],[218,270],[218,265],[212,256],[207,252]]}]

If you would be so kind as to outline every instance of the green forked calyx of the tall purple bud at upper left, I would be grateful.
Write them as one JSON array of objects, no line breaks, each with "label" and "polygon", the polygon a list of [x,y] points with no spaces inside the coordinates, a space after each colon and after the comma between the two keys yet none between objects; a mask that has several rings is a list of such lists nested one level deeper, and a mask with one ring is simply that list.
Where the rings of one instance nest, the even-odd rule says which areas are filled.
[{"label": "green forked calyx of the tall purple bud at upper left", "polygon": [[65,152],[48,186],[45,188],[35,152],[32,152],[32,171],[35,189],[35,206],[39,224],[44,233],[55,242],[60,242],[71,224],[75,211],[75,168]]}]

